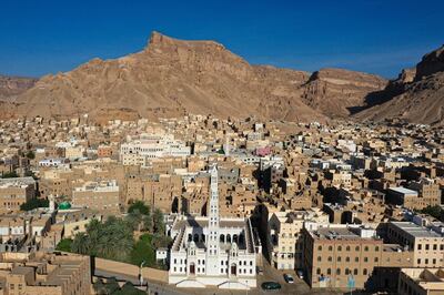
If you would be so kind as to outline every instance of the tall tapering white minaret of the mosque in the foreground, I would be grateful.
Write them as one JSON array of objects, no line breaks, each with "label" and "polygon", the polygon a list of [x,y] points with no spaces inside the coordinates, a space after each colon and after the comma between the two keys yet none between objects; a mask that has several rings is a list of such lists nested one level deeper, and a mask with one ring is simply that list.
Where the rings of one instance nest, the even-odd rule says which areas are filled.
[{"label": "tall tapering white minaret of the mosque in the foreground", "polygon": [[219,275],[219,192],[218,166],[210,167],[210,212],[206,238],[206,275]]}]

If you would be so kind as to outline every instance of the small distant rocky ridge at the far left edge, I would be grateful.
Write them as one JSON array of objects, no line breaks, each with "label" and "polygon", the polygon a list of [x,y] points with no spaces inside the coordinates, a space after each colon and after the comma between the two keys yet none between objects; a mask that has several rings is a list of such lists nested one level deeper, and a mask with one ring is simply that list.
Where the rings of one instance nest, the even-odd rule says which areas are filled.
[{"label": "small distant rocky ridge at the far left edge", "polygon": [[0,74],[0,101],[12,101],[19,94],[32,88],[37,79],[8,77]]}]

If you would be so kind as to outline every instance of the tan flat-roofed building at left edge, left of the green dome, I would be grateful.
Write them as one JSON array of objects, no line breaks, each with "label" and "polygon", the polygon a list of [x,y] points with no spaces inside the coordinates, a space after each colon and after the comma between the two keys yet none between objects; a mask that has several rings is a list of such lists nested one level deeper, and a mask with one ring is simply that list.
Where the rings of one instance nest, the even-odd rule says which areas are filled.
[{"label": "tan flat-roofed building at left edge, left of the green dome", "polygon": [[20,205],[36,197],[32,177],[0,179],[0,205],[2,211],[19,211]]}]

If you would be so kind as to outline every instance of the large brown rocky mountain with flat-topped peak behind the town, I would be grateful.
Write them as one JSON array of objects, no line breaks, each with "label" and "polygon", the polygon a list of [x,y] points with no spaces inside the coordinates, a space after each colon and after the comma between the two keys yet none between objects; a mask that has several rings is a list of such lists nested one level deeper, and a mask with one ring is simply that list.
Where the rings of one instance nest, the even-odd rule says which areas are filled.
[{"label": "large brown rocky mountain with flat-topped peak behind the town", "polygon": [[213,41],[183,41],[153,32],[145,49],[114,60],[93,59],[41,78],[12,113],[97,121],[185,113],[289,121],[326,121],[363,108],[386,80],[340,69],[313,74],[251,65]]}]

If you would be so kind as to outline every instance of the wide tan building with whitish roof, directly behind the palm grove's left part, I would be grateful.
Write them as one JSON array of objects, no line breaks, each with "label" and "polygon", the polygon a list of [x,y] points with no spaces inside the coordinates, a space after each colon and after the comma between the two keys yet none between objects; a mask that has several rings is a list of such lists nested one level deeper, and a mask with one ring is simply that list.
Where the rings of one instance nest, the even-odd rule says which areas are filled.
[{"label": "wide tan building with whitish roof, directly behind the palm grove's left part", "polygon": [[120,193],[115,180],[87,182],[72,192],[72,204],[92,210],[119,212]]}]

